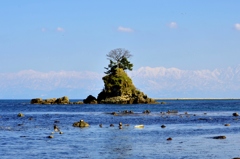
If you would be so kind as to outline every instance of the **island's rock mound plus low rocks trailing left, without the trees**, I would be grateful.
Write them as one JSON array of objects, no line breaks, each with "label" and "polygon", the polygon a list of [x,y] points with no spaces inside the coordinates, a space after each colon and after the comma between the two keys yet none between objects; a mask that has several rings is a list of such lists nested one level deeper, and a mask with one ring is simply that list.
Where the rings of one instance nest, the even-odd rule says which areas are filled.
[{"label": "island's rock mound plus low rocks trailing left, without the trees", "polygon": [[127,73],[117,68],[104,76],[104,89],[97,98],[89,95],[83,101],[70,102],[67,96],[61,98],[34,98],[31,104],[157,104],[153,98],[138,90]]}]

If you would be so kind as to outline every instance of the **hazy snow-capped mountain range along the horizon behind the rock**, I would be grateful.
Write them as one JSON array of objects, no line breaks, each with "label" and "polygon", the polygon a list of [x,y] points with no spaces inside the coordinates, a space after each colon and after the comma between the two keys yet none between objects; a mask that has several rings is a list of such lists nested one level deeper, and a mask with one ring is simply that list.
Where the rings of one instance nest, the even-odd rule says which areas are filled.
[{"label": "hazy snow-capped mountain range along the horizon behind the rock", "polygon": [[[156,98],[228,98],[240,96],[240,65],[226,69],[181,70],[141,67],[128,72],[137,88]],[[0,98],[68,95],[85,98],[103,88],[103,73],[38,72],[0,73]]]}]

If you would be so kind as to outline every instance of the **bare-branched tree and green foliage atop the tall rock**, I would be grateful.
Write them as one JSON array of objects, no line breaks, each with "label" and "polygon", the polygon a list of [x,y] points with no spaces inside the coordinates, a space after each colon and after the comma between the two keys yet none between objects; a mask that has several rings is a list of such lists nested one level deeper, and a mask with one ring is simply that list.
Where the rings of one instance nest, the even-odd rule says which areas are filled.
[{"label": "bare-branched tree and green foliage atop the tall rock", "polygon": [[108,67],[105,67],[107,70],[106,74],[115,73],[117,68],[121,68],[123,70],[132,70],[133,64],[128,61],[132,55],[130,52],[123,48],[118,48],[111,50],[107,54],[107,59],[110,60],[110,64]]}]

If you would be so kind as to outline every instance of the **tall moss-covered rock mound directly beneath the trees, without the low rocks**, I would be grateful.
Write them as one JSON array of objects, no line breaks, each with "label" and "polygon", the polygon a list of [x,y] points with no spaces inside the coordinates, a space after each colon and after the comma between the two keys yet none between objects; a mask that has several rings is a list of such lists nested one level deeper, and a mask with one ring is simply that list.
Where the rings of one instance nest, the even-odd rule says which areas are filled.
[{"label": "tall moss-covered rock mound directly beneath the trees, without the low rocks", "polygon": [[98,103],[140,104],[156,103],[143,92],[136,89],[126,72],[117,68],[114,73],[103,77],[104,89],[98,94]]}]

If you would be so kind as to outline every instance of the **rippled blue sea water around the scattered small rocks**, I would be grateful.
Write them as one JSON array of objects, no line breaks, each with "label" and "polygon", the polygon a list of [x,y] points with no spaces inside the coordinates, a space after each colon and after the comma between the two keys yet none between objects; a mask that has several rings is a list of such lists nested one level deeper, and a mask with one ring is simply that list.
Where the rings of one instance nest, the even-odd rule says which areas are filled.
[{"label": "rippled blue sea water around the scattered small rocks", "polygon": [[[232,116],[234,112],[240,113],[240,100],[166,100],[164,105],[30,105],[29,102],[0,100],[1,159],[240,157],[240,119]],[[147,109],[151,113],[143,114]],[[124,110],[132,110],[134,114],[109,114]],[[178,110],[178,114],[160,114],[168,110]],[[17,117],[20,112],[25,116]],[[72,126],[81,119],[90,127]],[[119,122],[129,126],[119,129]],[[224,126],[227,123],[230,126]],[[54,124],[63,134],[54,132]],[[139,124],[144,128],[135,128]],[[54,138],[48,138],[49,135]],[[226,139],[212,138],[219,135]],[[167,140],[169,137],[171,141]]]}]

